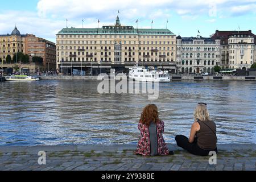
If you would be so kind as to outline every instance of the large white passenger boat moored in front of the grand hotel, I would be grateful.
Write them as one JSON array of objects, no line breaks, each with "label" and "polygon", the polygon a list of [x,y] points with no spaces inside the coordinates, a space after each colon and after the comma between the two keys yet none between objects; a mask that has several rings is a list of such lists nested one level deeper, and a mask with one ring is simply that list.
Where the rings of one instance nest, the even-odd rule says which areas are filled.
[{"label": "large white passenger boat moored in front of the grand hotel", "polygon": [[149,70],[144,67],[134,66],[129,68],[129,78],[135,81],[170,82],[168,71]]}]

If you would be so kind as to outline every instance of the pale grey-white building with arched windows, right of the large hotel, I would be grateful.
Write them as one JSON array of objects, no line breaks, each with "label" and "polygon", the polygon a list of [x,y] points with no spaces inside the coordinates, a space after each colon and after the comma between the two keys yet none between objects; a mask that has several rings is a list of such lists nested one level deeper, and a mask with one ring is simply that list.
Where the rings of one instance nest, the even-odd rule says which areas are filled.
[{"label": "pale grey-white building with arched windows, right of the large hotel", "polygon": [[197,37],[176,38],[178,73],[213,73],[220,64],[220,40]]}]

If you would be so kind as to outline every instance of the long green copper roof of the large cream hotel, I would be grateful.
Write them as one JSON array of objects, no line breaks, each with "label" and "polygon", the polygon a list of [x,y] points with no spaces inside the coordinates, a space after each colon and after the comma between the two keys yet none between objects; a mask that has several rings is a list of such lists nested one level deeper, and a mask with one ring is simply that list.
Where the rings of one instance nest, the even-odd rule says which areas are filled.
[{"label": "long green copper roof of the large cream hotel", "polygon": [[137,34],[137,35],[174,35],[168,29],[134,28],[132,26],[103,26],[102,28],[63,28],[57,35],[63,34]]}]

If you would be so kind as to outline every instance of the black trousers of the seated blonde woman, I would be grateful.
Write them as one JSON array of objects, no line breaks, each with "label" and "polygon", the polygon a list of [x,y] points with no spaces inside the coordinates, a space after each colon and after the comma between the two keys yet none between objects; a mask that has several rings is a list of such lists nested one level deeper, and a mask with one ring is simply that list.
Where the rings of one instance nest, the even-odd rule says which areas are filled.
[{"label": "black trousers of the seated blonde woman", "polygon": [[184,148],[185,150],[187,150],[189,153],[191,153],[193,155],[207,156],[207,155],[209,155],[210,151],[216,151],[216,153],[218,152],[217,148],[215,148],[214,150],[205,150],[203,148],[200,148],[197,145],[196,138],[193,143],[189,143],[187,137],[185,137],[184,135],[177,135],[175,137],[175,140],[177,142],[177,146]]}]

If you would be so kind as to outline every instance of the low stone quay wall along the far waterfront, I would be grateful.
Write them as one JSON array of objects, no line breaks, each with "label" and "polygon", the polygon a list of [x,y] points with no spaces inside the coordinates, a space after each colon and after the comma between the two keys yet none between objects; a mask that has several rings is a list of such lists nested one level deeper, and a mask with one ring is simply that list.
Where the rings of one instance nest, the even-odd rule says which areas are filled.
[{"label": "low stone quay wall along the far waterfront", "polygon": [[[98,76],[40,76],[41,80],[97,80]],[[171,80],[255,80],[256,76],[171,76]]]}]

